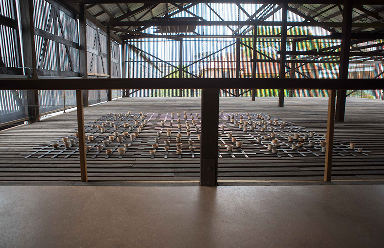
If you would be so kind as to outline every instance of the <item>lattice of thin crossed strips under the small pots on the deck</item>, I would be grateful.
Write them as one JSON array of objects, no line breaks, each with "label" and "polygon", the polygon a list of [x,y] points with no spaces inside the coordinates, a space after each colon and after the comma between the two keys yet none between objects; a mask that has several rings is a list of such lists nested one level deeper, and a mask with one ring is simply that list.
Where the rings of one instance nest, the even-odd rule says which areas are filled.
[{"label": "lattice of thin crossed strips under the small pots on the deck", "polygon": [[[128,115],[128,114],[126,114]],[[198,135],[200,134],[200,117],[197,113],[181,113],[178,116],[178,113],[159,114],[152,113],[147,114],[145,120],[147,124],[142,127],[142,131],[139,133],[139,136],[136,137],[133,141],[130,139],[130,134],[137,132],[137,128],[141,127],[141,123],[144,120],[140,120],[140,114],[130,114],[126,116],[121,114],[115,117],[114,114],[105,115],[97,120],[96,123],[88,124],[85,127],[85,132],[87,136],[94,136],[92,141],[86,140],[86,145],[91,146],[91,150],[87,151],[87,157],[89,158],[132,158],[132,157],[149,157],[149,158],[198,158],[200,156],[200,140]],[[134,121],[136,120],[134,116],[137,116],[139,123],[136,125]],[[117,118],[117,119],[115,119]],[[232,122],[230,119],[233,119]],[[247,130],[244,131],[239,127],[240,121],[247,122]],[[262,120],[263,119],[263,120]],[[256,113],[221,113],[219,115],[219,158],[251,158],[256,156],[271,156],[271,157],[319,157],[325,156],[325,153],[321,151],[320,141],[325,140],[323,135],[315,134],[313,137],[309,136],[309,131],[304,128],[297,126],[290,122],[285,122],[284,126],[281,126],[283,122],[277,120],[278,123],[275,124],[274,117],[268,116],[266,114],[256,114]],[[115,125],[118,125],[117,129],[113,125],[107,124],[105,126],[105,132],[101,131],[95,126],[106,121],[113,121]],[[237,124],[236,124],[237,121]],[[262,125],[259,125],[259,121],[263,121]],[[187,135],[187,124],[189,124],[190,135]],[[194,123],[193,123],[194,122]],[[264,123],[266,122],[266,123]],[[129,123],[129,127],[124,127],[124,123]],[[178,125],[180,124],[180,125]],[[250,126],[254,126],[254,130],[250,130]],[[262,130],[262,127],[266,125],[265,130]],[[222,126],[224,129],[222,130]],[[172,128],[171,136],[167,135],[167,130]],[[271,128],[273,129],[271,131]],[[130,130],[132,129],[132,130]],[[113,135],[114,132],[118,132],[119,136],[123,137],[121,143],[117,142],[116,139],[110,141],[108,145],[102,143],[103,140],[108,140],[109,135]],[[128,132],[128,136],[123,136],[123,132]],[[268,150],[268,144],[272,143],[272,137],[270,133],[275,133],[275,139],[278,140],[279,146],[274,146],[278,148],[276,154]],[[241,147],[236,147],[236,142],[232,142],[231,138],[228,137],[228,133],[232,133],[238,141],[244,142]],[[160,136],[158,136],[158,134]],[[177,134],[181,134],[181,141],[177,142]],[[294,139],[292,142],[289,142],[288,137],[294,136],[294,134],[300,134],[301,137],[304,137],[307,134],[309,137],[302,141],[304,143],[302,147],[298,147],[296,150],[292,149],[292,144],[297,144],[298,139]],[[257,138],[262,138],[261,142],[258,142]],[[74,139],[75,145],[72,145],[69,148],[64,147],[64,143],[61,140],[52,141],[52,143],[59,143],[59,147],[53,148],[51,144],[42,145],[40,147],[34,148],[31,151],[28,151],[25,158],[37,157],[37,158],[69,158],[69,157],[79,157],[78,150],[78,139],[74,135],[68,136],[68,140]],[[157,140],[158,139],[158,140]],[[169,145],[166,145],[165,142],[170,142]],[[193,142],[190,145],[190,142]],[[315,145],[313,147],[309,146],[309,141],[314,141]],[[177,154],[176,152],[176,143],[182,143],[182,153]],[[96,147],[99,144],[103,144],[103,150],[97,151]],[[123,155],[120,155],[117,152],[117,148],[124,147],[124,144],[130,144],[130,147],[126,149]],[[227,145],[233,145],[233,150],[228,151]],[[158,147],[153,147],[153,145],[158,145]],[[164,147],[169,146],[169,150],[165,151]],[[192,151],[189,149],[189,146],[193,146],[195,149]],[[112,149],[112,154],[106,155],[105,150]],[[151,155],[150,150],[155,150],[155,154]],[[349,143],[341,143],[338,141],[334,142],[333,155],[334,156],[358,156],[365,155],[368,156],[369,152],[358,152],[357,149],[351,149]]]}]

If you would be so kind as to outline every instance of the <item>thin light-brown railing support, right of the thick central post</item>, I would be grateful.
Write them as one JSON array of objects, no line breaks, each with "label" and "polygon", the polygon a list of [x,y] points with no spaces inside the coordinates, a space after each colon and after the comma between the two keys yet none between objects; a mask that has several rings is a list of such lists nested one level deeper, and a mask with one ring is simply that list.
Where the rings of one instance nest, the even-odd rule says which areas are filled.
[{"label": "thin light-brown railing support, right of the thick central post", "polygon": [[336,90],[328,91],[328,120],[327,120],[327,143],[325,152],[324,181],[331,180],[332,174],[332,152],[333,152],[333,129],[335,124],[335,97]]}]

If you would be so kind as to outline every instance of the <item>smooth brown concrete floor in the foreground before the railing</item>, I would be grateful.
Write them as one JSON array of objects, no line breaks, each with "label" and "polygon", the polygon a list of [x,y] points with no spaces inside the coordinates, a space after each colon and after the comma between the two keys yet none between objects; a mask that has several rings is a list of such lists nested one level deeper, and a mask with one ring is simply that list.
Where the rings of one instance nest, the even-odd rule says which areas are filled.
[{"label": "smooth brown concrete floor in the foreground before the railing", "polygon": [[0,186],[0,247],[384,247],[384,185]]}]

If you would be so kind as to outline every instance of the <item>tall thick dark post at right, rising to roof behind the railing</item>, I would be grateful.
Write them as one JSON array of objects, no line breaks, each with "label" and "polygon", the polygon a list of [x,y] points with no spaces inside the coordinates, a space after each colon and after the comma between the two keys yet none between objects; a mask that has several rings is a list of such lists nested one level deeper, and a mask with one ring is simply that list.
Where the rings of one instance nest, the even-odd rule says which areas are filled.
[{"label": "tall thick dark post at right, rising to roof behind the railing", "polygon": [[[348,65],[350,59],[350,45],[351,45],[351,27],[352,27],[352,12],[353,3],[351,0],[344,0],[343,9],[343,27],[341,33],[341,48],[340,48],[340,67],[339,78],[348,79]],[[336,121],[344,121],[345,102],[347,91],[337,90],[336,101]]]}]

